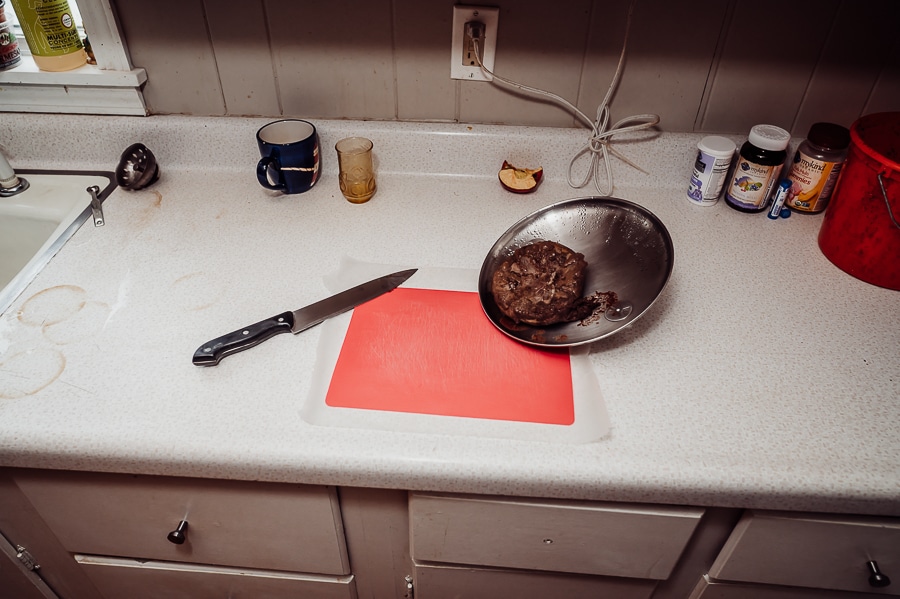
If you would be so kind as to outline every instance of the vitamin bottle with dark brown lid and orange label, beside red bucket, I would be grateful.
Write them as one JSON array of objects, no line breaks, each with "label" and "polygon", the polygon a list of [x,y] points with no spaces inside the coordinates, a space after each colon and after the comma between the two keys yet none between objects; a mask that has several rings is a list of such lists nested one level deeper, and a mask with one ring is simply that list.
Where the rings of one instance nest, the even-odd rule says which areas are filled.
[{"label": "vitamin bottle with dark brown lid and orange label, beside red bucket", "polygon": [[815,123],[791,163],[787,206],[815,214],[828,206],[834,184],[847,158],[850,132],[834,123]]}]

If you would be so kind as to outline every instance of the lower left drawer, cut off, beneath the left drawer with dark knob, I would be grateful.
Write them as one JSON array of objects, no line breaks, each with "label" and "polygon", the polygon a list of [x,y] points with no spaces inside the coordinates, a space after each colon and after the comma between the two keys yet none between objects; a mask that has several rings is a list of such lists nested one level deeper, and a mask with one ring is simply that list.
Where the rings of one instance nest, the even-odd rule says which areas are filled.
[{"label": "lower left drawer, cut off, beneath the left drawer with dark knob", "polygon": [[353,576],[313,576],[75,556],[104,599],[356,599]]}]

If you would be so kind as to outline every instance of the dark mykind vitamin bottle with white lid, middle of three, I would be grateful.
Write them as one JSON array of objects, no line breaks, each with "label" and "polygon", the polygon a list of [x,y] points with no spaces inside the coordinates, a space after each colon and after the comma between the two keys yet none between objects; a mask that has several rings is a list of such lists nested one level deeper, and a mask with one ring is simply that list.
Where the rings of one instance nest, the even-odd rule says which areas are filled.
[{"label": "dark mykind vitamin bottle with white lid, middle of three", "polygon": [[775,125],[755,125],[741,146],[725,203],[742,212],[762,212],[787,158],[791,134]]}]

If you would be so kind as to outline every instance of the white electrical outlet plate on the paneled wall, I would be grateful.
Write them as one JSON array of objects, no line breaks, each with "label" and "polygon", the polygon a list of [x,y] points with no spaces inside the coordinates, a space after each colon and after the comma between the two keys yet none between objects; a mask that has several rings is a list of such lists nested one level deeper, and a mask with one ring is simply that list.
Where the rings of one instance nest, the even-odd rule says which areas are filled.
[{"label": "white electrical outlet plate on the paneled wall", "polygon": [[500,9],[492,6],[454,6],[453,37],[450,45],[450,78],[466,81],[490,81],[473,55],[472,37],[466,34],[466,23],[483,23],[484,39],[480,43],[481,62],[494,70],[497,54],[497,26]]}]

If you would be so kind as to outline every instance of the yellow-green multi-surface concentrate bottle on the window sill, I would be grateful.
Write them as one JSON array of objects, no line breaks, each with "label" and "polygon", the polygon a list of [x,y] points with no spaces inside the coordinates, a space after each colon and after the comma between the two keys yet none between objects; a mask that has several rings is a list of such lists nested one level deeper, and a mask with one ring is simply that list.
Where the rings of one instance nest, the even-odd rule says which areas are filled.
[{"label": "yellow-green multi-surface concentrate bottle on the window sill", "polygon": [[35,64],[69,71],[87,61],[68,0],[11,0]]}]

